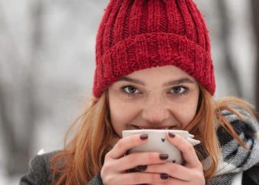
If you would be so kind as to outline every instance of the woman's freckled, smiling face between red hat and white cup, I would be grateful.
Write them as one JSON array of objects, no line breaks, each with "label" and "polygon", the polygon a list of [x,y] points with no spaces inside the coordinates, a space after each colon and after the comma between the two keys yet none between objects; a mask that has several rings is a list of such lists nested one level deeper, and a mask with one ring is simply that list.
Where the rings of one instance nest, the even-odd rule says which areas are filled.
[{"label": "woman's freckled, smiling face between red hat and white cup", "polygon": [[184,129],[195,116],[199,86],[176,66],[136,71],[108,88],[110,119],[123,130]]}]

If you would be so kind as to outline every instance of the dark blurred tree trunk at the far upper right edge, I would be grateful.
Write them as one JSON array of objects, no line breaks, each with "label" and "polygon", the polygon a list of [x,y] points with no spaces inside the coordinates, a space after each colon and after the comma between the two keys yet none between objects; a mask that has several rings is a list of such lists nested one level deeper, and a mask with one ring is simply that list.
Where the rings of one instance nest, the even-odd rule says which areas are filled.
[{"label": "dark blurred tree trunk at the far upper right edge", "polygon": [[[256,59],[256,108],[259,111],[259,1],[251,0],[251,8],[254,22],[254,32],[256,36],[256,45],[257,45],[257,59]],[[259,119],[259,114],[258,114]]]}]

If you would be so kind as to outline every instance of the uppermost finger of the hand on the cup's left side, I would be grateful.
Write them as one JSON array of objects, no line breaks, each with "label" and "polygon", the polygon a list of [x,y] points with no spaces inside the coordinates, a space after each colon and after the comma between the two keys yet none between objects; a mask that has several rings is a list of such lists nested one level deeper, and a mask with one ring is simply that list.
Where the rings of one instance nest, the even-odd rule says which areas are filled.
[{"label": "uppermost finger of the hand on the cup's left side", "polygon": [[107,154],[113,159],[121,158],[129,149],[147,143],[147,134],[134,134],[121,138]]}]

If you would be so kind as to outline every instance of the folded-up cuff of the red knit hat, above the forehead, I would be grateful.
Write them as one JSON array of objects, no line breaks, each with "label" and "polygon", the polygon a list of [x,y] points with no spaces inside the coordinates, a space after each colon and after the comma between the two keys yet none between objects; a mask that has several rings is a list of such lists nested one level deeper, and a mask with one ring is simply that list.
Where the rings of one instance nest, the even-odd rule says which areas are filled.
[{"label": "folded-up cuff of the red knit hat, above the forehead", "polygon": [[130,36],[106,51],[99,62],[93,84],[95,97],[100,97],[108,86],[125,75],[166,65],[179,67],[214,95],[214,69],[210,53],[185,36],[164,32]]}]

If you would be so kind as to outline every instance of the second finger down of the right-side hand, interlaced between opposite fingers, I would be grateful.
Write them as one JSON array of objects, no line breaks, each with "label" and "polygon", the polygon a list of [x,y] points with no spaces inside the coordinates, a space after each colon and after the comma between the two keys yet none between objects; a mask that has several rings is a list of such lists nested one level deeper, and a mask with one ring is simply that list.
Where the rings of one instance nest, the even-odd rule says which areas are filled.
[{"label": "second finger down of the right-side hand, interlaced between opposite fingers", "polygon": [[192,169],[169,162],[164,164],[151,164],[147,166],[145,173],[167,173],[173,178],[187,182],[193,180],[195,177]]}]

